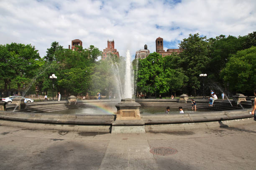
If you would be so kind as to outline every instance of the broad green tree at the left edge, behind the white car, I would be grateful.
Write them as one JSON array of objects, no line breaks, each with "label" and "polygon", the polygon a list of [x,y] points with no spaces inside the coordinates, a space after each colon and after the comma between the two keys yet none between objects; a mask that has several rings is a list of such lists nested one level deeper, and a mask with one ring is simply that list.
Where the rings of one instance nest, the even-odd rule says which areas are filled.
[{"label": "broad green tree at the left edge, behind the white car", "polygon": [[38,68],[42,66],[43,60],[38,50],[31,44],[11,43],[1,45],[0,50],[0,77],[4,81],[5,90],[13,81],[20,91],[21,86],[30,84],[31,79],[38,74]]}]

